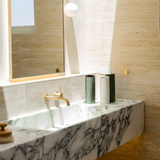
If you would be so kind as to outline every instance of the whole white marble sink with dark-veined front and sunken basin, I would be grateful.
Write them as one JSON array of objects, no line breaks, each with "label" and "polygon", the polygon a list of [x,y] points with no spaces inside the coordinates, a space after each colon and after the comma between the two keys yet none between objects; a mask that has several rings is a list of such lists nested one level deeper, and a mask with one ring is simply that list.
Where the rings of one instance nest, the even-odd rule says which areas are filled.
[{"label": "whole white marble sink with dark-veined front and sunken basin", "polygon": [[6,123],[15,142],[0,144],[0,160],[94,160],[144,132],[144,102],[79,102]]}]

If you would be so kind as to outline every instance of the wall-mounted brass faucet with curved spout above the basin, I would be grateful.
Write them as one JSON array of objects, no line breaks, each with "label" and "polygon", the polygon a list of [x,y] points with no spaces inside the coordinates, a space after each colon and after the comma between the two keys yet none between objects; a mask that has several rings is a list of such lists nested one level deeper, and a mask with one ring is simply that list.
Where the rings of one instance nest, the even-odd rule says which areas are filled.
[{"label": "wall-mounted brass faucet with curved spout above the basin", "polygon": [[64,100],[67,104],[67,106],[70,106],[69,100],[67,98],[63,97],[63,94],[61,93],[61,87],[60,87],[60,92],[56,91],[54,92],[53,96],[49,96],[48,94],[44,95],[45,101],[48,101],[49,99],[52,100]]}]

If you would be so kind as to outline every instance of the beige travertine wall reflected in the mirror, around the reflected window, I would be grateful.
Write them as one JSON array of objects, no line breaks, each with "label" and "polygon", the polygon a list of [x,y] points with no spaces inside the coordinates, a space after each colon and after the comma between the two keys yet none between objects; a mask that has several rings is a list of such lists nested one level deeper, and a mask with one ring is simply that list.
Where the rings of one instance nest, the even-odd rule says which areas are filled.
[{"label": "beige travertine wall reflected in the mirror, around the reflected window", "polygon": [[34,34],[12,34],[13,77],[63,72],[62,1],[35,0]]}]

